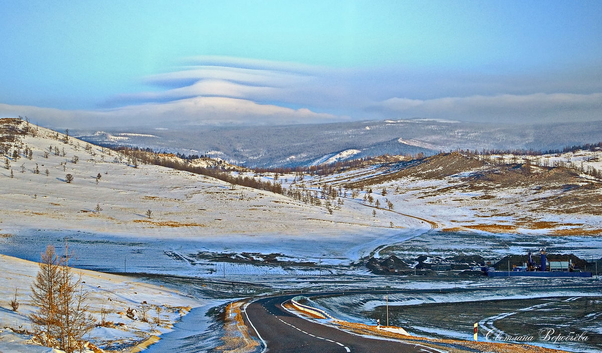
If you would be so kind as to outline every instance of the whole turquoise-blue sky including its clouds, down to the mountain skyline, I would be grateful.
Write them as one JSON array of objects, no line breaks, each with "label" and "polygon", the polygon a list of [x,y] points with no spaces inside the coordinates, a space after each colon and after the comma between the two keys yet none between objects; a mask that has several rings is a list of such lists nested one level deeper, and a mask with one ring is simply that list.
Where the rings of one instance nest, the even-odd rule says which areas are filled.
[{"label": "whole turquoise-blue sky including its clouds, down to the mountain skyline", "polygon": [[7,1],[0,116],[594,120],[601,19],[600,1]]}]

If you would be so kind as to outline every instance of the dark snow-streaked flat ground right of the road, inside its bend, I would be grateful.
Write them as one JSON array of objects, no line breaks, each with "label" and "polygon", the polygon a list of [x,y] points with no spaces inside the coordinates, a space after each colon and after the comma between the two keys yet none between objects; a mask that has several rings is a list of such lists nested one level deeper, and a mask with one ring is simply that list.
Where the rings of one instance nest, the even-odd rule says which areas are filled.
[{"label": "dark snow-streaked flat ground right of the road, inside its bend", "polygon": [[[495,337],[530,335],[534,337],[531,344],[547,348],[574,352],[602,349],[602,335],[598,332],[602,317],[600,289],[487,289],[396,293],[388,298],[389,324],[416,336],[471,340],[473,323],[478,322],[480,340],[495,342]],[[382,295],[314,298],[309,305],[351,322],[386,322]],[[588,340],[550,342],[539,336],[539,331],[547,328],[553,328],[556,334],[584,333]]]}]

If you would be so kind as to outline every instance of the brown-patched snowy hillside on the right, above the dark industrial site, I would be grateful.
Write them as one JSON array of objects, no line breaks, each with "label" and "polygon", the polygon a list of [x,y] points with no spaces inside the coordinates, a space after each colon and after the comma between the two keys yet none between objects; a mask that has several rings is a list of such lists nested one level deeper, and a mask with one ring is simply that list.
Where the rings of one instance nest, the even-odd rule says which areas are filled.
[{"label": "brown-patched snowy hillside on the right, above the dark industrial site", "polygon": [[[496,258],[539,248],[598,256],[602,183],[576,169],[551,167],[551,161],[550,166],[535,166],[535,161],[526,165],[520,157],[517,163],[506,157],[510,164],[453,152],[371,164],[306,183],[359,190],[354,200],[373,206],[379,201],[377,214],[389,212],[389,201],[394,211],[439,224],[437,233],[394,247],[393,254],[402,258],[425,253]],[[600,168],[601,157],[602,151],[581,151],[550,158]]]}]

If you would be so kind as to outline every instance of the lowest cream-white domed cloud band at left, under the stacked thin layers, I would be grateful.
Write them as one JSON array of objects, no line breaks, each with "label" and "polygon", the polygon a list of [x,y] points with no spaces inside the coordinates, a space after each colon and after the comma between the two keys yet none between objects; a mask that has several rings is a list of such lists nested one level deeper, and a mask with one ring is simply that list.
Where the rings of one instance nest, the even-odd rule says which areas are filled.
[{"label": "lowest cream-white domed cloud band at left, under the stacked thin layers", "polygon": [[307,108],[292,109],[257,104],[246,99],[194,97],[167,103],[127,105],[114,109],[60,110],[28,105],[0,104],[0,116],[28,116],[32,122],[52,127],[125,127],[173,124],[258,125],[318,123],[348,120],[346,116],[315,113]]}]

